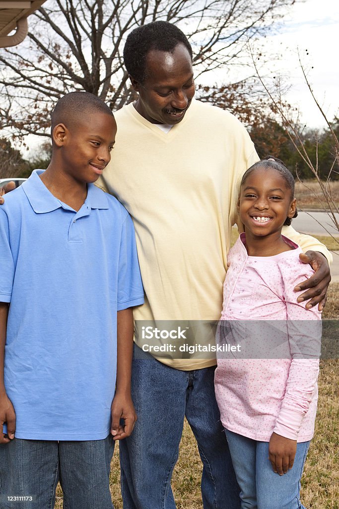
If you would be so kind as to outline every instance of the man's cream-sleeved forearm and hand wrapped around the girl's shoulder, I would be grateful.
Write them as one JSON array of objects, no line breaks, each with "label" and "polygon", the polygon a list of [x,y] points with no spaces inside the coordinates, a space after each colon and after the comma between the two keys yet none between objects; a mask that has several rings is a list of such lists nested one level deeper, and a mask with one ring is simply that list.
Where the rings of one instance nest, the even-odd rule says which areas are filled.
[{"label": "man's cream-sleeved forearm and hand wrapped around the girl's shoulder", "polygon": [[304,254],[300,254],[301,262],[309,263],[315,271],[312,277],[305,281],[300,281],[294,288],[295,292],[309,289],[299,295],[298,302],[310,299],[306,304],[306,308],[310,309],[318,304],[319,311],[322,311],[326,303],[326,292],[331,280],[329,270],[329,263],[332,262],[331,253],[319,240],[310,235],[300,234],[291,226],[284,227],[282,233],[301,247],[304,252]]}]

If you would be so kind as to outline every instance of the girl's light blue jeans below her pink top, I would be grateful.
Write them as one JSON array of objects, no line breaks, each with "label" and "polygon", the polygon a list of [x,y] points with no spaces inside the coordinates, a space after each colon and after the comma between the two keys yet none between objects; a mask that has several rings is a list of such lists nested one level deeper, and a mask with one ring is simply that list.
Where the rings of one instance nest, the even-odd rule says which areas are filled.
[{"label": "girl's light blue jeans below her pink top", "polygon": [[297,444],[293,467],[279,475],[268,459],[268,442],[225,432],[240,486],[241,509],[305,509],[300,502],[300,478],[310,441]]}]

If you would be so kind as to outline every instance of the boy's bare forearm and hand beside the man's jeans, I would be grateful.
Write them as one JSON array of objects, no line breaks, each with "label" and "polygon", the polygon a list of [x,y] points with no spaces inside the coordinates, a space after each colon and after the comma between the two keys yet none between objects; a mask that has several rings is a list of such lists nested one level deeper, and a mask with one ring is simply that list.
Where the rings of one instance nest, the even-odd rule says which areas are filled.
[{"label": "boy's bare forearm and hand beside the man's jeans", "polygon": [[[111,433],[114,440],[130,436],[137,420],[131,397],[133,332],[132,308],[118,311],[116,389],[111,407]],[[124,426],[120,425],[120,419],[124,419]]]}]

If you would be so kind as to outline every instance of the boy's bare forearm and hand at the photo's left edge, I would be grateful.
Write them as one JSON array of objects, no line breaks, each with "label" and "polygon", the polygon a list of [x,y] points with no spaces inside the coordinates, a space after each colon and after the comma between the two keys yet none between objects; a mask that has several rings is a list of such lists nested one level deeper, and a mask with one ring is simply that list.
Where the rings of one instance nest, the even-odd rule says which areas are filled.
[{"label": "boy's bare forearm and hand at the photo's left edge", "polygon": [[[15,432],[15,411],[12,402],[7,396],[4,385],[4,361],[6,328],[8,316],[8,303],[0,302],[0,443],[8,443],[14,438]],[[7,423],[8,437],[4,436],[3,426]]]}]

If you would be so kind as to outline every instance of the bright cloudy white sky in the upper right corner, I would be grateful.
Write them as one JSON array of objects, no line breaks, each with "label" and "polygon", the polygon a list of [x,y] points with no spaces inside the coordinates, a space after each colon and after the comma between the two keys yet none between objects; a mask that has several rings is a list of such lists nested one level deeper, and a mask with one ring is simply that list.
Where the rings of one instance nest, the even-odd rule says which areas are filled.
[{"label": "bright cloudy white sky in the upper right corner", "polygon": [[[284,98],[297,108],[300,121],[308,128],[322,129],[326,124],[307,90],[298,54],[315,97],[332,121],[335,115],[339,116],[338,42],[339,3],[335,0],[298,0],[283,20],[274,23],[269,36],[255,43],[251,41],[254,54],[262,51],[257,64],[266,86],[272,90],[273,76],[280,76]],[[225,71],[229,82],[255,74],[249,58],[248,68],[229,66],[226,70],[210,71],[201,80],[222,83]]]}]

